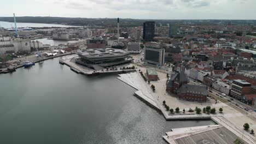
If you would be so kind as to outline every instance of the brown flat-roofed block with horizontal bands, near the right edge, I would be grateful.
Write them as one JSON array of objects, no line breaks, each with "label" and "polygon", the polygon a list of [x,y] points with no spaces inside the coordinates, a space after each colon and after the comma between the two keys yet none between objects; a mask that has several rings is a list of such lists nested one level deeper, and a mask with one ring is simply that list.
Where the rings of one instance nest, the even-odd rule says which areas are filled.
[{"label": "brown flat-roofed block with horizontal bands, near the right edge", "polygon": [[240,100],[242,95],[250,94],[251,83],[243,80],[233,80],[231,85],[230,96]]}]

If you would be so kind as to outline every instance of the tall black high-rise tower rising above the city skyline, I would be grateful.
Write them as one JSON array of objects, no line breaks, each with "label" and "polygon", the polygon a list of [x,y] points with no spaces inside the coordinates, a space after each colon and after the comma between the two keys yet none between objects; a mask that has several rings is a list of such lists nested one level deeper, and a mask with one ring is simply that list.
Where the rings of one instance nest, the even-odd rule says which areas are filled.
[{"label": "tall black high-rise tower rising above the city skyline", "polygon": [[143,23],[143,40],[153,40],[155,35],[155,22],[146,21]]}]

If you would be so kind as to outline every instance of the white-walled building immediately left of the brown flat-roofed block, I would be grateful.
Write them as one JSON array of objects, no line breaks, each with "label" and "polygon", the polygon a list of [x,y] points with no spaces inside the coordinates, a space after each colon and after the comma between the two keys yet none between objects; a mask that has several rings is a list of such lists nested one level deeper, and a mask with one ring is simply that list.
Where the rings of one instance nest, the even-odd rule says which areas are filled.
[{"label": "white-walled building immediately left of the brown flat-roofed block", "polygon": [[223,82],[220,79],[212,83],[212,88],[217,89],[217,91],[222,92],[226,95],[229,95],[230,85],[227,82]]}]

